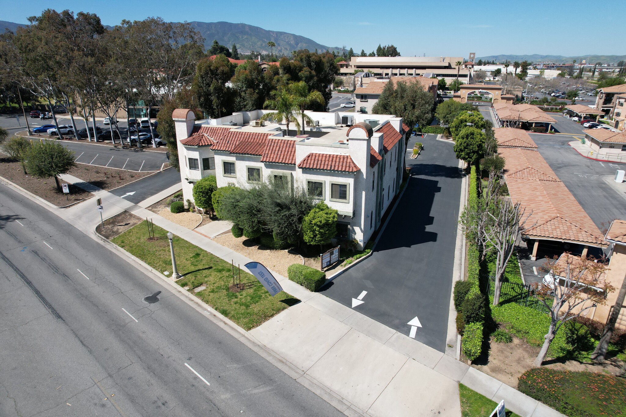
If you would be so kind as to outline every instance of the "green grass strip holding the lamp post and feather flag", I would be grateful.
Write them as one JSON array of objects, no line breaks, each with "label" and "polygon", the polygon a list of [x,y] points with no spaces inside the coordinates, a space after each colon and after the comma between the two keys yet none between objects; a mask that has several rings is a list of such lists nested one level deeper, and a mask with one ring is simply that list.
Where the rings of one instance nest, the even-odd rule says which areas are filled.
[{"label": "green grass strip holding the lamp post and feather flag", "polygon": [[[148,240],[148,226],[143,221],[112,241],[157,271],[169,271],[171,274],[172,259],[167,231],[158,226],[154,226],[154,231],[156,239]],[[206,285],[207,288],[196,295],[246,330],[254,329],[299,301],[284,291],[270,296],[254,276],[243,270],[241,282],[246,284],[246,288],[239,293],[232,293],[228,291],[228,285],[232,284],[233,279],[229,263],[178,236],[174,236],[173,241],[178,273],[183,275],[176,283],[190,288]]]}]

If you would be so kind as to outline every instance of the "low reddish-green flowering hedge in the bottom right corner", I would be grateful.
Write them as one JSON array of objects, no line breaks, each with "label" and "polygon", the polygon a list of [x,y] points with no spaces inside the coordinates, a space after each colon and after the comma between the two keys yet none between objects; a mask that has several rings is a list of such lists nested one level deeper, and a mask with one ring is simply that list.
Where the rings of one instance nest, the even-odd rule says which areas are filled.
[{"label": "low reddish-green flowering hedge in the bottom right corner", "polygon": [[622,416],[626,409],[626,381],[603,373],[533,368],[517,389],[570,417]]}]

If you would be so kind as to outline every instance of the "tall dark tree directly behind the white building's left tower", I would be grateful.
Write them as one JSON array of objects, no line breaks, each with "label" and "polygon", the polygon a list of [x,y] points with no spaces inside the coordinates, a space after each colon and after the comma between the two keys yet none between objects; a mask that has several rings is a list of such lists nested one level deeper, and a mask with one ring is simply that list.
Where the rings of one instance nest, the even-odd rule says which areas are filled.
[{"label": "tall dark tree directly behind the white building's left tower", "polygon": [[234,94],[232,88],[226,85],[232,71],[233,65],[223,55],[198,62],[193,89],[198,97],[198,105],[211,118],[221,118],[232,113]]}]

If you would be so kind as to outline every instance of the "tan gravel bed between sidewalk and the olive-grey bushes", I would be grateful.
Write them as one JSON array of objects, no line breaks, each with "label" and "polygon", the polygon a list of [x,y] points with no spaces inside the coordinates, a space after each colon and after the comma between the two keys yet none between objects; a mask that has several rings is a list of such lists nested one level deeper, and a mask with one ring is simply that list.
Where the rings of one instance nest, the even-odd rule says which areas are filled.
[{"label": "tan gravel bed between sidewalk and the olive-grey bushes", "polygon": [[[226,246],[244,255],[246,258],[264,264],[265,268],[276,271],[282,276],[287,276],[287,268],[289,265],[296,263],[302,264],[300,255],[292,251],[267,249],[265,246],[260,246],[252,239],[244,238],[243,236],[241,238],[235,238],[230,232],[220,234],[220,236],[216,236],[213,240],[222,246]],[[319,266],[317,268],[319,268]]]}]

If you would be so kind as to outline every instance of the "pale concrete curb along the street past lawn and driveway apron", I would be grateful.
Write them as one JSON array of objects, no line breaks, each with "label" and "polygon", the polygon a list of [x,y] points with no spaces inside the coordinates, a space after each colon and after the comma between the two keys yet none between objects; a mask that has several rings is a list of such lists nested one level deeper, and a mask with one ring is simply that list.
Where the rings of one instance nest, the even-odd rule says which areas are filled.
[{"label": "pale concrete curb along the street past lawn and driveway apron", "polygon": [[[110,218],[115,217],[111,216]],[[108,218],[108,219],[110,219]],[[151,276],[156,282],[164,284],[165,286],[170,288],[173,294],[178,296],[178,298],[183,299],[187,304],[192,306],[197,311],[202,311],[203,316],[206,316],[208,319],[213,321],[213,323],[220,326],[220,328],[227,331],[234,338],[238,339],[250,349],[254,350],[264,359],[267,359],[270,363],[274,364],[277,368],[283,371],[285,374],[289,375],[291,378],[298,381],[300,384],[305,386],[305,388],[312,391],[314,394],[324,399],[327,403],[331,404],[335,408],[337,408],[341,413],[346,414],[346,416],[354,417],[369,417],[369,414],[364,413],[364,411],[357,409],[352,403],[344,399],[340,394],[335,393],[332,389],[322,385],[315,379],[311,378],[304,371],[300,370],[293,364],[289,363],[287,359],[283,358],[279,354],[275,353],[272,349],[267,348],[264,344],[260,343],[252,334],[250,334],[245,329],[241,328],[238,324],[234,323],[232,320],[222,316],[222,314],[218,313],[215,309],[209,306],[207,303],[202,301],[202,299],[195,296],[195,294],[190,293],[186,289],[182,288],[180,285],[172,281],[171,278],[163,275],[156,269],[152,268],[150,265],[141,261],[141,259],[136,258],[132,254],[128,253],[125,249],[120,248],[120,246],[111,242],[109,239],[102,236],[96,230],[93,231],[98,239],[100,239],[101,243],[105,246],[108,246],[111,250],[120,254],[120,256],[125,257],[131,263],[135,264],[137,269],[144,269],[144,272],[149,272],[149,276]],[[302,303],[302,301],[300,301]]]}]

